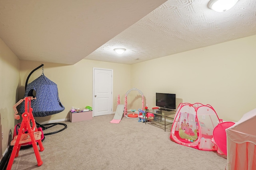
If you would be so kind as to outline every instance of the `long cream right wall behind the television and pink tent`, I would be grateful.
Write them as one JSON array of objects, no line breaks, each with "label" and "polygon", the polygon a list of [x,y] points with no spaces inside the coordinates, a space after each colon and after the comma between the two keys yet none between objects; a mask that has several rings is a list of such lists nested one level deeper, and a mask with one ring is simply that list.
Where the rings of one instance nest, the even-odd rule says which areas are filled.
[{"label": "long cream right wall behind the television and pink tent", "polygon": [[210,104],[220,118],[238,121],[256,107],[255,42],[256,35],[133,64],[131,85],[150,108],[156,92],[176,93],[179,101]]}]

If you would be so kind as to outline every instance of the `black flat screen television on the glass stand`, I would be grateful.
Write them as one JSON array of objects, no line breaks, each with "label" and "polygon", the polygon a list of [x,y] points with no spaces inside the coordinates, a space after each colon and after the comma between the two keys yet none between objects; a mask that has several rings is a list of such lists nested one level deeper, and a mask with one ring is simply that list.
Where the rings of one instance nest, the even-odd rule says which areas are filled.
[{"label": "black flat screen television on the glass stand", "polygon": [[176,94],[156,93],[156,106],[167,111],[176,109]]}]

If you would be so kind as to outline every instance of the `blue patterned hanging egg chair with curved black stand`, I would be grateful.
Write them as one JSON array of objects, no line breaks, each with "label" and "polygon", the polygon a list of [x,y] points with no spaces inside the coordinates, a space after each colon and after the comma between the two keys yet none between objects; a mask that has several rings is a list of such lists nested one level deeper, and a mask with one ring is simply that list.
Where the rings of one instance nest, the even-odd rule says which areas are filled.
[{"label": "blue patterned hanging egg chair with curved black stand", "polygon": [[[28,79],[30,75],[40,67],[43,67],[42,75],[36,78],[36,80],[32,81],[30,84],[28,84]],[[31,104],[30,104],[30,106],[33,109],[32,114],[34,117],[44,117],[48,115],[53,115],[56,113],[60,113],[65,109],[65,107],[61,104],[60,99],[58,97],[57,84],[52,82],[46,76],[44,76],[44,64],[41,64],[40,66],[32,70],[32,72],[30,72],[30,74],[28,75],[28,78],[26,80],[26,85],[25,85],[24,98],[28,96],[36,97],[36,100],[31,100]],[[25,102],[23,101],[20,104],[19,112],[24,113],[24,111],[25,111]],[[65,123],[47,123],[47,124],[40,125],[39,123],[36,122],[36,125],[38,127],[42,127],[42,130],[49,129],[50,127],[53,127],[56,125],[64,126],[64,128],[60,130],[46,133],[44,135],[52,135],[54,133],[63,131],[64,129],[67,128],[67,125]]]}]

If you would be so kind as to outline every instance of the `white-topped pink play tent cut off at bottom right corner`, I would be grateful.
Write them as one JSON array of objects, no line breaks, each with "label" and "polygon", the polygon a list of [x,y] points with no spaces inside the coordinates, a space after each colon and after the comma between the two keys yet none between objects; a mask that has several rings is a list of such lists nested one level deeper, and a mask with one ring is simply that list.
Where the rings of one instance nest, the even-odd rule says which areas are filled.
[{"label": "white-topped pink play tent cut off at bottom right corner", "polygon": [[256,109],[226,129],[227,170],[256,170]]}]

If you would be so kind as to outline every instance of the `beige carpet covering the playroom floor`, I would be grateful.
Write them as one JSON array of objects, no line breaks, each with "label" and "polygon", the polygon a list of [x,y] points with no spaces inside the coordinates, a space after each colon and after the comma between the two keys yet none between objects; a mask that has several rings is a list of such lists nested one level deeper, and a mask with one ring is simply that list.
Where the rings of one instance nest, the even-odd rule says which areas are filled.
[{"label": "beige carpet covering the playroom floor", "polygon": [[[22,149],[12,170],[224,170],[226,156],[170,141],[170,130],[114,114],[65,121],[68,128],[47,135],[37,166],[33,148]],[[59,128],[59,127],[54,127]],[[170,129],[170,127],[169,127]],[[48,133],[52,129],[44,131]],[[39,147],[38,147],[39,148]]]}]

